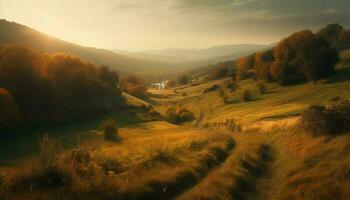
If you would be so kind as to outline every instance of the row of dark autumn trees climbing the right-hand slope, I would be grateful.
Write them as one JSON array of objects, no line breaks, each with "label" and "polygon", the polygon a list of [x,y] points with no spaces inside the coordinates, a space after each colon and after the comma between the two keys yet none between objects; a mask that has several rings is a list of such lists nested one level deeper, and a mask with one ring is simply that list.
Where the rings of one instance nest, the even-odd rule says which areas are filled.
[{"label": "row of dark autumn trees climbing the right-hand slope", "polygon": [[216,64],[209,78],[232,76],[239,80],[277,81],[282,85],[316,83],[332,75],[339,61],[338,52],[346,48],[350,48],[350,30],[339,24],[330,24],[316,33],[302,30],[271,49]]}]

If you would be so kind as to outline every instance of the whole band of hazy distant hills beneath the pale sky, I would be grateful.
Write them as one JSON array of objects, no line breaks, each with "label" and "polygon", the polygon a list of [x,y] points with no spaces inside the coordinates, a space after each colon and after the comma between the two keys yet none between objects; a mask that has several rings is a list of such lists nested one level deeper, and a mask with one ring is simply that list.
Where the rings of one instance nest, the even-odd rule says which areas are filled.
[{"label": "whole band of hazy distant hills beneath the pale sky", "polygon": [[237,57],[261,50],[268,45],[223,45],[208,49],[163,49],[145,52],[125,52],[84,47],[46,35],[25,25],[0,19],[0,44],[25,44],[47,52],[65,52],[97,65],[108,65],[120,73],[143,77],[176,73],[234,60]]}]

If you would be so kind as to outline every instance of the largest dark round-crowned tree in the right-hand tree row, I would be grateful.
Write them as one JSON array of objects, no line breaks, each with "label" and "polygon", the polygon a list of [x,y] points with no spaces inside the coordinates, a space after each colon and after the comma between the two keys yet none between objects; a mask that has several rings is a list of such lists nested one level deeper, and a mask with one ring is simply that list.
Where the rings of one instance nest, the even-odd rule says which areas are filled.
[{"label": "largest dark round-crowned tree in the right-hand tree row", "polygon": [[274,48],[274,55],[271,74],[283,85],[328,77],[338,60],[338,53],[327,40],[310,30],[282,40]]}]

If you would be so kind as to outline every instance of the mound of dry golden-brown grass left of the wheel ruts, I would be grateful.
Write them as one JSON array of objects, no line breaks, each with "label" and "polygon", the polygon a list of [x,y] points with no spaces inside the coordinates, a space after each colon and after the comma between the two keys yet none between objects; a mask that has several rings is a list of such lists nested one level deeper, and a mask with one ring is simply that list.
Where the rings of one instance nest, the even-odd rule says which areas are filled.
[{"label": "mound of dry golden-brown grass left of the wheel ruts", "polygon": [[[7,171],[6,198],[154,199],[175,196],[220,165],[234,147],[225,134],[155,122],[121,129],[120,144],[103,140],[59,155],[54,168],[23,164]],[[150,127],[156,127],[152,129]],[[129,131],[129,134],[126,133]],[[33,169],[38,169],[33,172]],[[43,182],[41,181],[43,180]],[[51,181],[57,184],[47,184]],[[58,180],[58,181],[56,181]],[[42,184],[44,183],[44,185]],[[50,187],[46,187],[49,185]]]}]

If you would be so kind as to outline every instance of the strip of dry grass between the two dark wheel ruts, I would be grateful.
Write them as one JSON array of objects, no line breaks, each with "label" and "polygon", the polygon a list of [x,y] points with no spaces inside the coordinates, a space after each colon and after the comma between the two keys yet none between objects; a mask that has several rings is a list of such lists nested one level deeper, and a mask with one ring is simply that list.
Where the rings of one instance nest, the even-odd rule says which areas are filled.
[{"label": "strip of dry grass between the two dark wheel ruts", "polygon": [[237,147],[219,168],[177,199],[246,199],[266,170],[269,150],[258,136],[237,135]]}]

